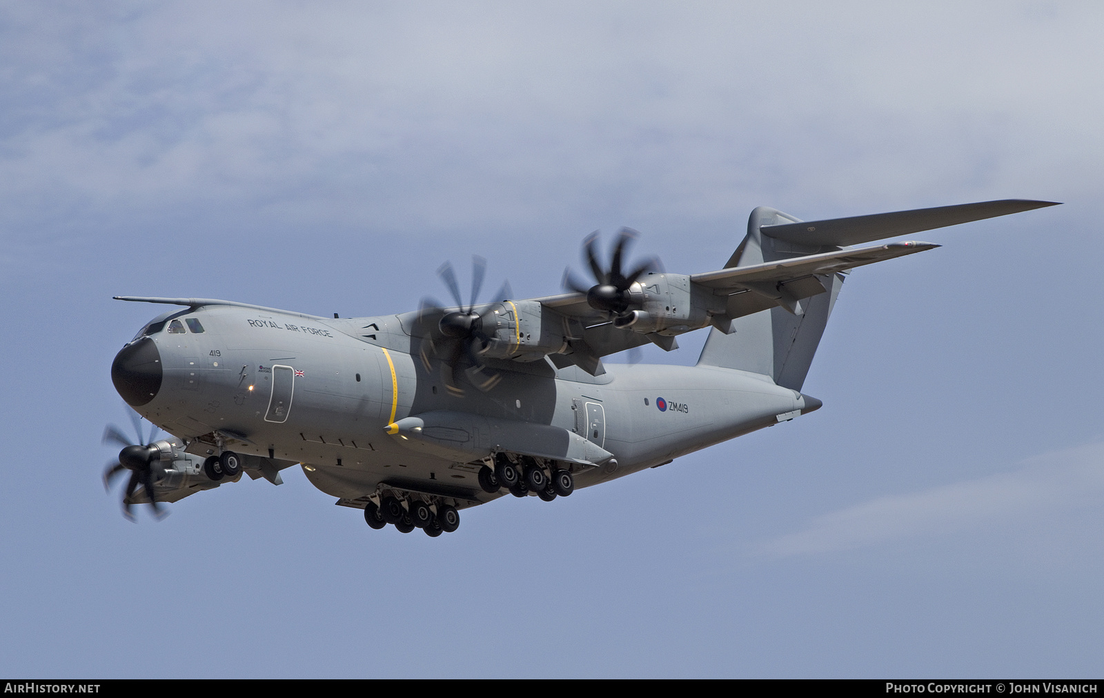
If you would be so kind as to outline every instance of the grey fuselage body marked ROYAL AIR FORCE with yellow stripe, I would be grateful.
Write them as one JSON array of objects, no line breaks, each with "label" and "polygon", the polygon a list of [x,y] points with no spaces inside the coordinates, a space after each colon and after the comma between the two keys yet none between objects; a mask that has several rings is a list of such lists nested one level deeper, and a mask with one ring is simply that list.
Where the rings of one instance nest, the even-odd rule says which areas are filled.
[{"label": "grey fuselage body marked ROYAL AIR FORCE with yellow stripe", "polygon": [[[439,361],[425,370],[404,316],[330,320],[204,306],[171,318],[181,320],[176,332],[170,319],[120,352],[138,342],[156,346],[160,383],[145,404],[128,399],[135,409],[184,440],[190,453],[214,453],[215,434],[236,452],[300,463],[316,487],[346,499],[396,482],[413,483],[413,489],[424,483],[428,491],[453,488],[469,505],[501,496],[479,488],[478,461],[422,453],[388,433],[411,415],[460,412],[583,435],[615,456],[603,467],[572,467],[576,486],[585,487],[819,406],[745,371],[614,364],[592,377],[546,360],[492,361],[501,374],[495,388],[485,393],[469,387],[456,396],[445,389]],[[461,437],[493,455],[488,434]]]}]

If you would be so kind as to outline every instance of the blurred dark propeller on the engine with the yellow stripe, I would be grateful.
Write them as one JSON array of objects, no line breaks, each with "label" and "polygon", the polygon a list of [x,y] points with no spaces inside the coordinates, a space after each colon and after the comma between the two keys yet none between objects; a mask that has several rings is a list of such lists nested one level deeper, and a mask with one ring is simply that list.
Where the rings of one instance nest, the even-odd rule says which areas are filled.
[{"label": "blurred dark propeller on the engine with the yellow stripe", "polygon": [[[458,384],[461,371],[473,385],[484,392],[501,380],[498,373],[485,372],[487,366],[482,361],[481,352],[486,349],[490,337],[484,332],[482,318],[475,311],[486,271],[487,260],[471,257],[471,300],[465,306],[453,265],[445,262],[437,269],[437,275],[448,286],[458,309],[448,310],[440,307],[433,298],[424,298],[418,310],[418,324],[428,334],[428,338],[422,342],[422,364],[426,371],[433,370],[429,363],[431,355],[448,364],[452,370],[443,371],[442,374],[445,388],[454,395],[464,394],[464,389]],[[511,295],[510,282],[503,282],[493,300],[505,300]],[[467,368],[464,368],[465,364],[468,364]]]}]

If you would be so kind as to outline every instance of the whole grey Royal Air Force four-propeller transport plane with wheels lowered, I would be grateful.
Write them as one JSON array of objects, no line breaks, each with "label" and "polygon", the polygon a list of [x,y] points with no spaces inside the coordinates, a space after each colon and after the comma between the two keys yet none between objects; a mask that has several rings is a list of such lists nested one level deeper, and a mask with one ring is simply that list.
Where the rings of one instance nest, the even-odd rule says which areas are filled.
[{"label": "whole grey Royal Air Force four-propeller transport plane with wheels lowered", "polygon": [[[938,245],[878,240],[1054,205],[1002,200],[800,221],[757,208],[721,268],[629,268],[623,231],[604,266],[585,241],[594,284],[477,303],[477,258],[464,303],[323,318],[209,298],[142,327],[116,356],[123,399],[171,437],[123,450],[105,486],[130,472],[124,511],[237,482],[307,479],[388,524],[454,531],[459,510],[506,494],[549,501],[820,408],[802,385],[851,268]],[[697,366],[604,366],[602,357],[709,329]]]}]

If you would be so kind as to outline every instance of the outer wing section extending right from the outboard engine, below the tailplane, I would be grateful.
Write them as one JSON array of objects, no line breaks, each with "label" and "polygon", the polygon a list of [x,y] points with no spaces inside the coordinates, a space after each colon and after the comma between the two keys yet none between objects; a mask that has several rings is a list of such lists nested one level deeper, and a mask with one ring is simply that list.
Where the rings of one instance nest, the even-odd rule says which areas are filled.
[{"label": "outer wing section extending right from the outboard engine, below the tailplane", "polygon": [[[928,242],[893,242],[875,247],[839,250],[822,254],[792,257],[779,262],[765,262],[763,264],[736,266],[718,272],[693,274],[690,276],[690,281],[708,288],[751,288],[754,290],[757,285],[766,282],[779,284],[810,274],[832,274],[856,266],[924,252],[925,250],[938,246]],[[824,289],[821,288],[817,293],[822,292]]]}]

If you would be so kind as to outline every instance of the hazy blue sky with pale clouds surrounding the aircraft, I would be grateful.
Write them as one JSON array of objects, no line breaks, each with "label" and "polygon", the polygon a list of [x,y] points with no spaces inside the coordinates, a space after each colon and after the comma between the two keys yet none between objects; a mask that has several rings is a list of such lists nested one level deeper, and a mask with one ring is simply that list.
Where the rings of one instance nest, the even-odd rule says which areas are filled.
[{"label": "hazy blue sky with pale clouds surrounding the aircraft", "polygon": [[[1098,676],[1096,3],[0,3],[0,674]],[[99,483],[115,352],[221,297],[559,289],[592,230],[1004,198],[851,275],[800,420],[457,533],[301,473],[157,524]],[[461,283],[466,274],[461,272]],[[646,360],[693,363],[704,337]]]}]

